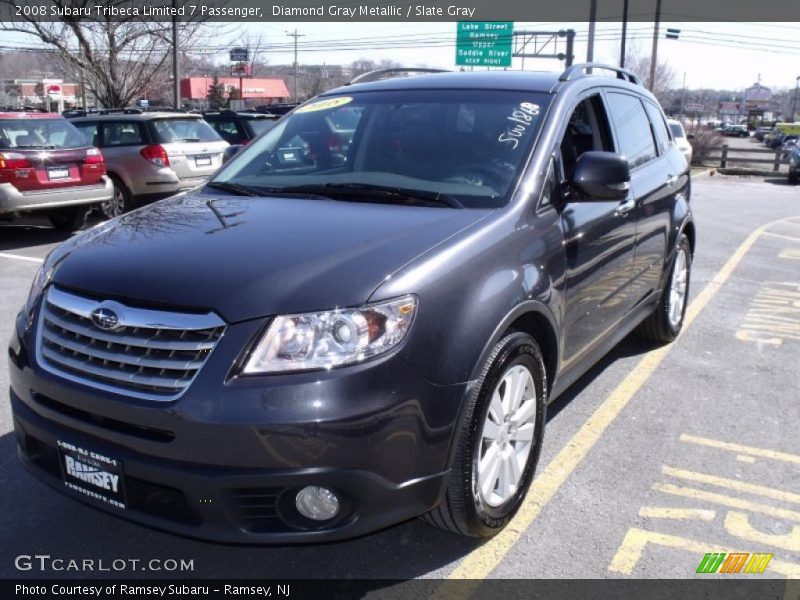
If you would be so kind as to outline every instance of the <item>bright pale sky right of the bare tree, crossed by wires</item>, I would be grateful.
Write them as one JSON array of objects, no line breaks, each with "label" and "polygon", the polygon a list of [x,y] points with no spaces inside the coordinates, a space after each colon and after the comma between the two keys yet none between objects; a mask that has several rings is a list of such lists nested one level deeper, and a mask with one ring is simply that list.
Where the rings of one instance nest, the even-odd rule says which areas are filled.
[{"label": "bright pale sky right of the bare tree, crossed by wires", "polygon": [[[244,24],[232,36],[255,42],[261,36],[270,48],[263,54],[270,64],[290,64],[295,29],[298,62],[302,64],[347,64],[359,58],[391,59],[404,66],[426,65],[452,69],[456,23],[258,23]],[[677,75],[678,85],[686,77],[689,88],[709,87],[741,90],[759,80],[762,85],[793,88],[800,75],[800,23],[709,23],[663,22],[658,56],[666,60]],[[577,32],[576,62],[586,58],[587,23],[516,23],[515,31],[550,31],[573,28]],[[680,29],[678,40],[664,37],[666,28]],[[649,55],[653,23],[628,25],[628,44]],[[595,42],[595,61],[618,64],[620,23],[599,23]],[[369,40],[373,46],[352,48],[348,44]],[[428,47],[413,44],[424,40]],[[401,42],[399,42],[401,41]],[[356,43],[358,43],[356,42]],[[394,44],[393,49],[379,46]],[[431,46],[431,44],[435,44]],[[277,47],[276,47],[277,46]],[[414,47],[416,46],[416,47]],[[217,60],[224,60],[224,54]],[[513,69],[522,66],[514,58]],[[525,59],[529,70],[558,70],[563,63],[550,59]],[[642,74],[646,77],[646,74]]]}]

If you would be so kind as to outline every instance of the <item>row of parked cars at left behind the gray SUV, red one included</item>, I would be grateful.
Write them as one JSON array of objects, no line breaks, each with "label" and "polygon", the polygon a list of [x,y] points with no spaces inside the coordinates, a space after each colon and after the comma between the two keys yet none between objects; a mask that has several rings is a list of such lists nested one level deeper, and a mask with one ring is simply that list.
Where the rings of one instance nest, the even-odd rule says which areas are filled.
[{"label": "row of parked cars at left behind the gray SUV, red one included", "polygon": [[[283,114],[295,105],[275,106]],[[0,219],[43,214],[71,231],[93,207],[121,215],[202,184],[229,145],[248,144],[279,118],[266,110],[0,112]]]}]

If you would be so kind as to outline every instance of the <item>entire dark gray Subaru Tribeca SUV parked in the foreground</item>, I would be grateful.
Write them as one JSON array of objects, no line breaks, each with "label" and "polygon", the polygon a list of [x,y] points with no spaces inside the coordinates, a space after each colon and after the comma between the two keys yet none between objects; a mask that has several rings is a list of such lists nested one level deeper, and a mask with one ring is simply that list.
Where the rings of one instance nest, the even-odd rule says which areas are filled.
[{"label": "entire dark gray Subaru Tribeca SUV parked in the foreground", "polygon": [[59,246],[11,341],[24,464],[211,540],[500,531],[548,401],[686,306],[686,161],[635,76],[584,70],[327,92]]}]

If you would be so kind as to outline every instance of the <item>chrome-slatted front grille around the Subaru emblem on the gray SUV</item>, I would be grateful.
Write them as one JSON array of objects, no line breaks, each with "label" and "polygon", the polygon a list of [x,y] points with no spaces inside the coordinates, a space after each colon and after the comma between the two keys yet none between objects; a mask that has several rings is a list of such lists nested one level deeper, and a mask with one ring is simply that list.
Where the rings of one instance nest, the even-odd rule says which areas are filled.
[{"label": "chrome-slatted front grille around the Subaru emblem on the gray SUV", "polygon": [[[95,325],[98,309],[113,311],[113,329]],[[92,387],[149,400],[180,396],[225,331],[213,313],[191,314],[97,301],[50,287],[42,302],[39,364]]]}]

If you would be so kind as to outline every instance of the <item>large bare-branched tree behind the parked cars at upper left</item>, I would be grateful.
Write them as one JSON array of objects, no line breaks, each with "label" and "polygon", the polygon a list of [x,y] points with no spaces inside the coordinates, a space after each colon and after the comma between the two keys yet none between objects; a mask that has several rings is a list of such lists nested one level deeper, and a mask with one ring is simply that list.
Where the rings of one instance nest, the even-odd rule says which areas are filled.
[{"label": "large bare-branched tree behind the parked cars at upper left", "polygon": [[[16,0],[0,0],[7,12]],[[131,0],[110,0],[106,8],[130,8],[140,5]],[[156,3],[158,4],[158,3]],[[46,0],[42,6],[61,11],[89,10],[92,0]],[[164,4],[167,6],[167,4]],[[171,3],[169,4],[171,6]],[[142,12],[141,9],[139,11]],[[76,73],[87,89],[105,106],[125,106],[136,98],[148,82],[169,64],[172,37],[170,21],[150,21],[149,17],[107,16],[92,12],[80,17],[64,16],[55,22],[35,16],[0,23],[0,29],[36,37],[52,50],[61,68]],[[180,50],[198,43],[207,24],[200,20],[179,21]]]}]

